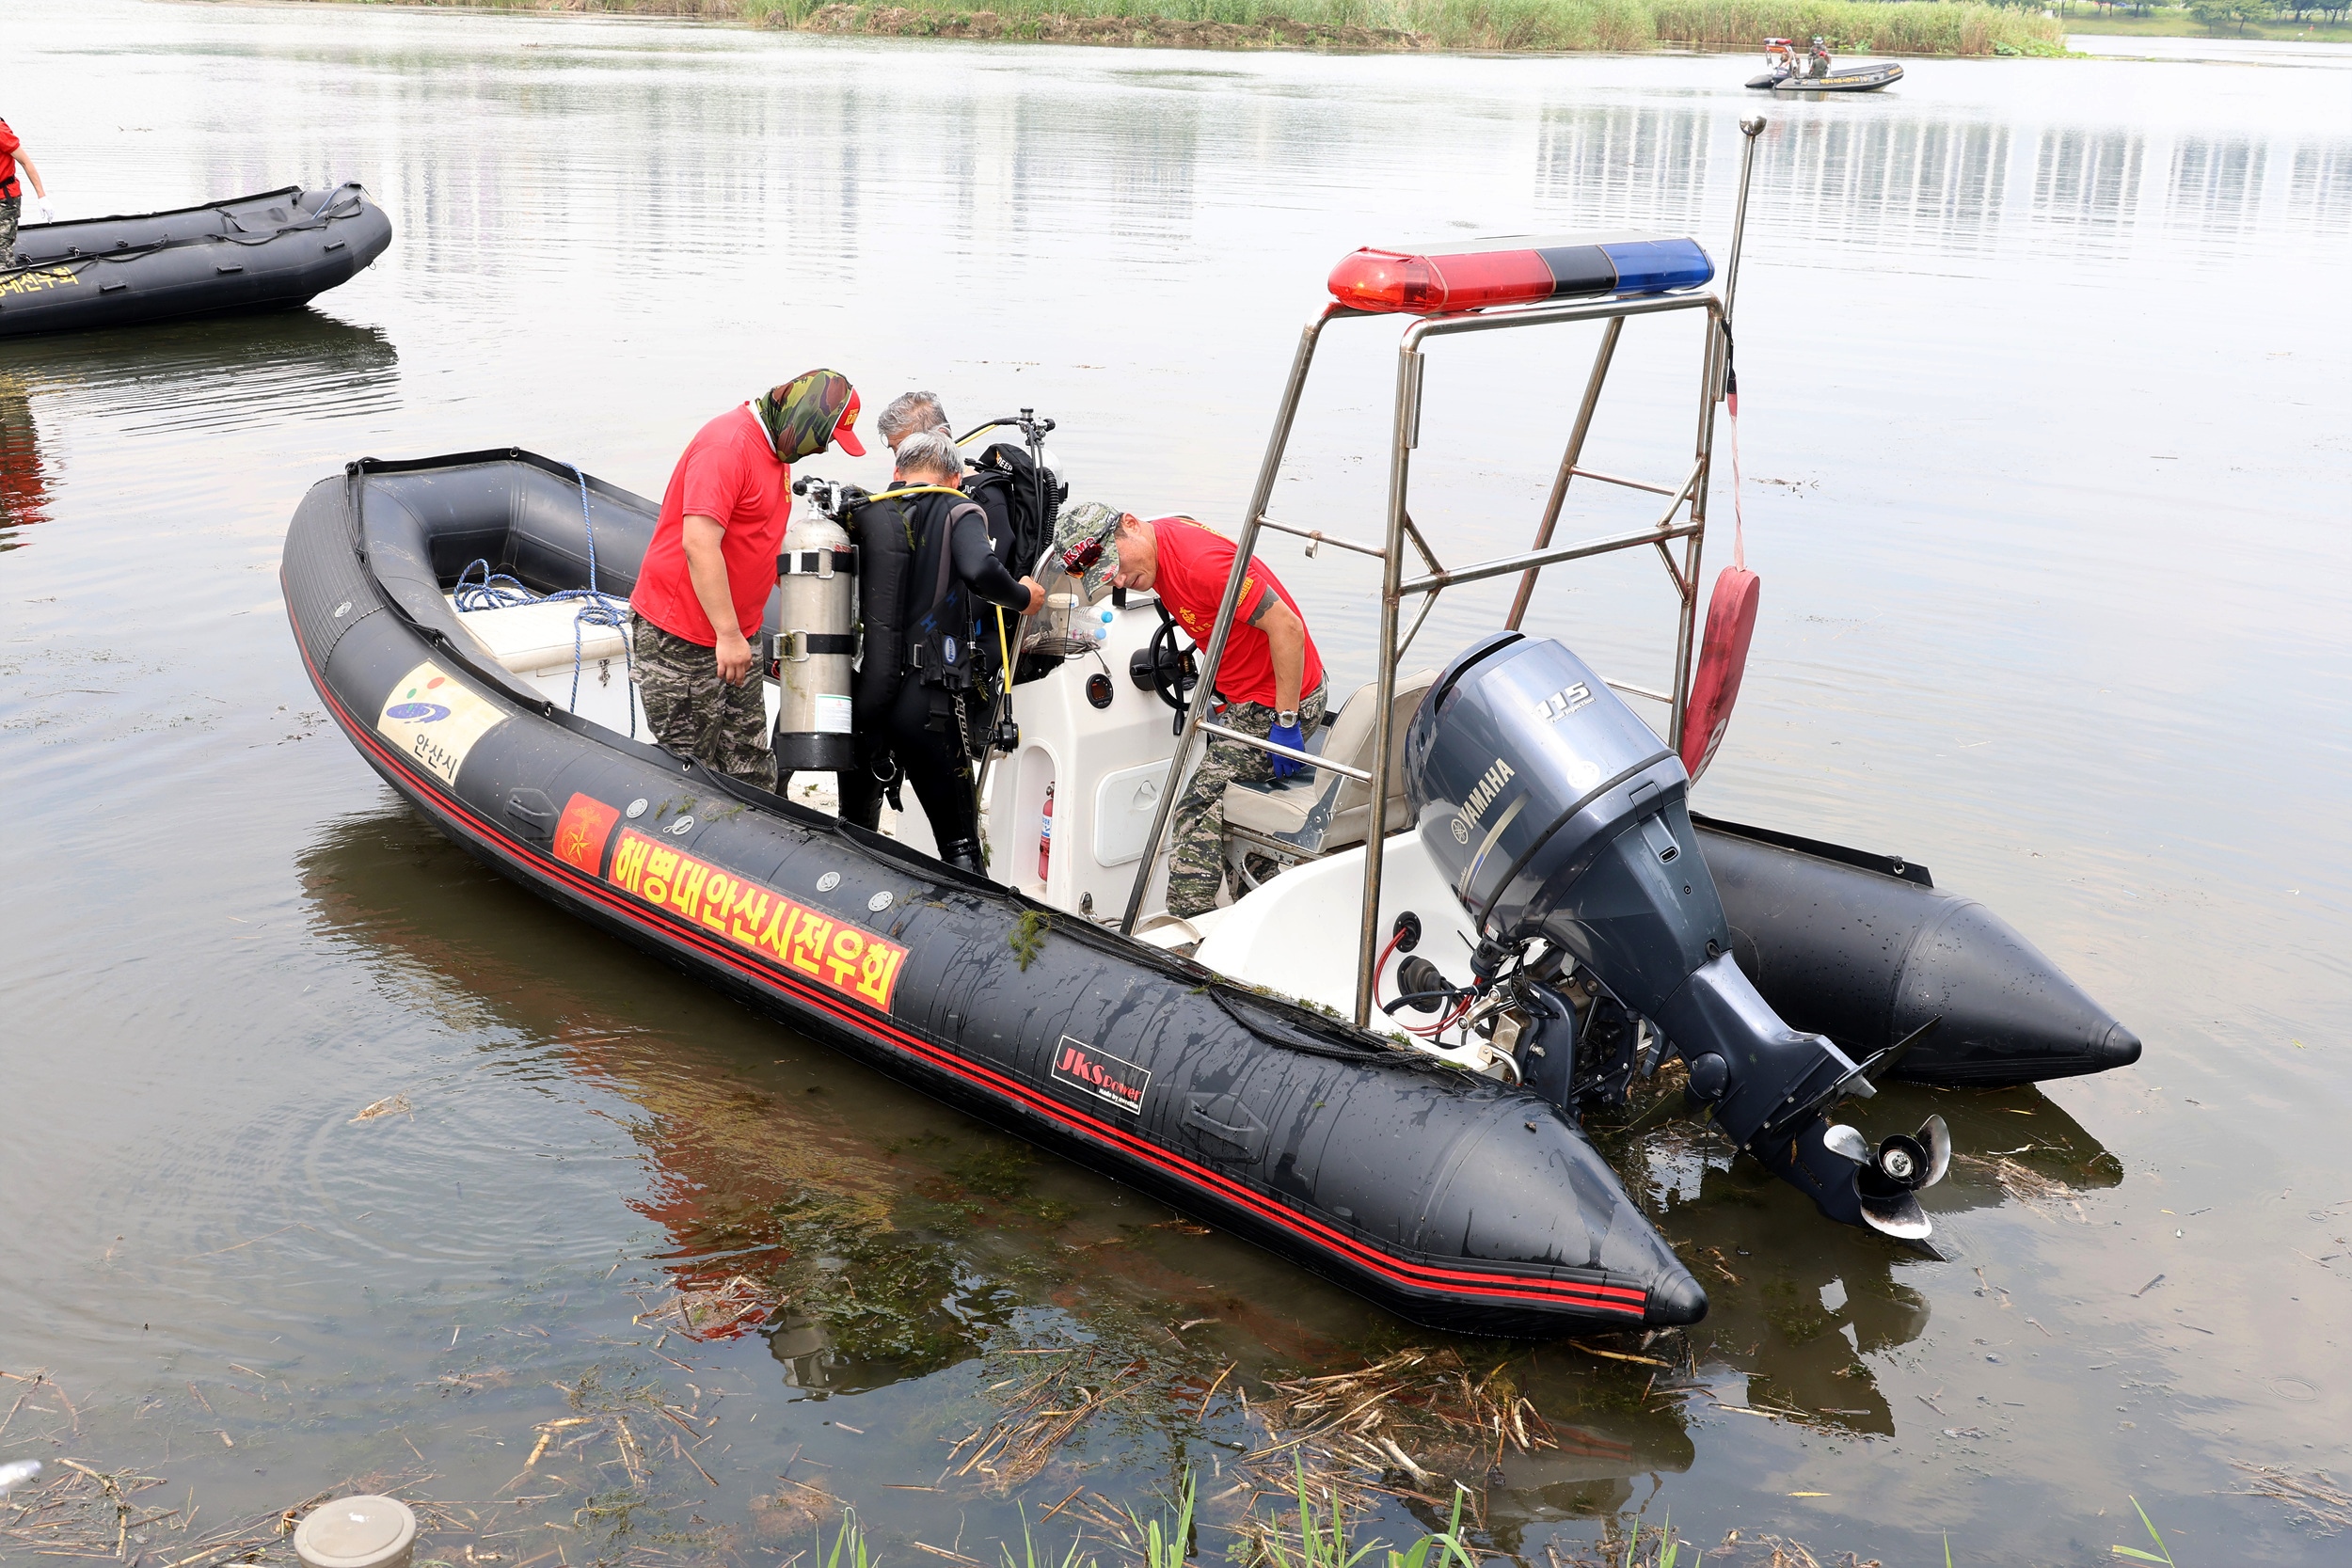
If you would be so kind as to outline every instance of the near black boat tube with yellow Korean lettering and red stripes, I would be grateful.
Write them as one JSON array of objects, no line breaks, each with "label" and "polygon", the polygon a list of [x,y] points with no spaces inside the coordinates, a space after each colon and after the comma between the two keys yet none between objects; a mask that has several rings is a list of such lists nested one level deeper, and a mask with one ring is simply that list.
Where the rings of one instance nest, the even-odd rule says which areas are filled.
[{"label": "near black boat tube with yellow Korean lettering and red stripes", "polygon": [[1705,1314],[1538,1095],[588,724],[442,599],[477,557],[576,588],[588,527],[626,592],[652,522],[522,451],[353,463],[294,515],[287,614],[336,724],[456,844],[861,1063],[1432,1328]]}]

